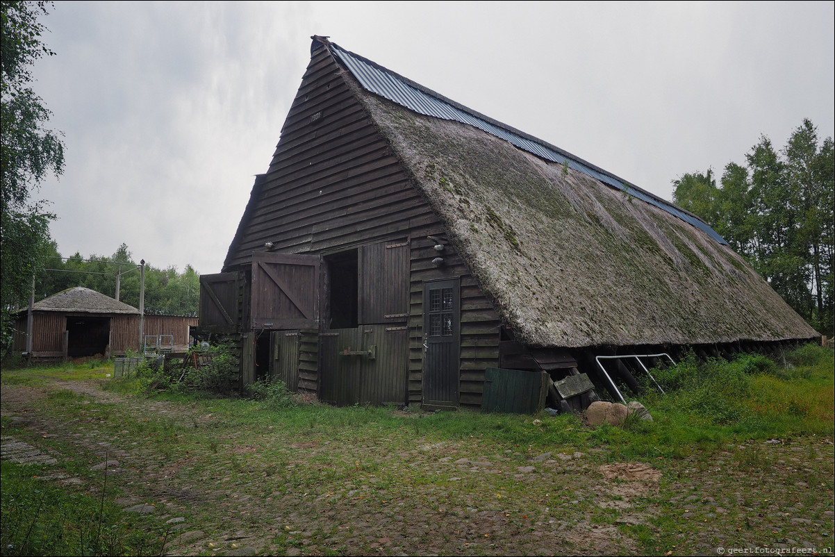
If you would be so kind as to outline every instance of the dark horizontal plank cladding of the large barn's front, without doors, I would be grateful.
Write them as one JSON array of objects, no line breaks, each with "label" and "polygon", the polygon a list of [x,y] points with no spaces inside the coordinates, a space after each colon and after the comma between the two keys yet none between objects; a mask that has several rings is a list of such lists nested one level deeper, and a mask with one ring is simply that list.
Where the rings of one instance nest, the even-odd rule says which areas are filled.
[{"label": "dark horizontal plank cladding of the large barn's front, without doors", "polygon": [[[432,263],[438,252],[427,236],[443,237],[443,225],[411,185],[346,79],[353,78],[325,48],[313,55],[270,168],[253,186],[224,271],[245,271],[253,252],[266,250],[266,242],[272,243],[271,251],[320,255],[382,241],[406,242],[407,402],[420,403],[423,396],[423,281],[459,276],[459,403],[478,408],[484,370],[498,367],[498,314],[451,247],[443,253],[445,266]],[[361,293],[368,296],[375,286],[381,296],[390,296],[373,284],[361,284]],[[329,361],[324,353],[328,338],[320,337],[320,372]],[[309,371],[306,381],[316,384]]]}]

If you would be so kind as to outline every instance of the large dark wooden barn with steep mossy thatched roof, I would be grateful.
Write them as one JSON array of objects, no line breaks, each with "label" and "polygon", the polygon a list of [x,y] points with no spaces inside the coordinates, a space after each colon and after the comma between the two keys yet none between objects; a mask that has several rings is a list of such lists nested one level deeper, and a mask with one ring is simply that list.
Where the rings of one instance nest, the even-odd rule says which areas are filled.
[{"label": "large dark wooden barn with steep mossy thatched roof", "polygon": [[576,408],[589,378],[620,395],[691,347],[817,337],[695,215],[312,39],[222,272],[200,277],[197,330],[240,342],[242,385]]}]

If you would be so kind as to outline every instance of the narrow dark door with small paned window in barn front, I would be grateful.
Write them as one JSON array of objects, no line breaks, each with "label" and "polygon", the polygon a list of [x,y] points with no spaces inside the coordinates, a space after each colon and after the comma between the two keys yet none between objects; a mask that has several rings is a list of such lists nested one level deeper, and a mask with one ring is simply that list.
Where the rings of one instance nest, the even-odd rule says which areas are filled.
[{"label": "narrow dark door with small paned window in barn front", "polygon": [[423,283],[423,405],[458,406],[458,279]]}]

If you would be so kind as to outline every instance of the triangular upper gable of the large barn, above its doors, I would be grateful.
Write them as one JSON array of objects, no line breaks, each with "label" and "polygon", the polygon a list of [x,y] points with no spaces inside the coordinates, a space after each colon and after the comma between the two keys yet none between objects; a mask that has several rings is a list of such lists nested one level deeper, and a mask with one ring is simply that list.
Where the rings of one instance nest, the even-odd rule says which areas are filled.
[{"label": "triangular upper gable of the large barn, above its doors", "polygon": [[326,48],[311,58],[225,261],[338,250],[436,220]]}]

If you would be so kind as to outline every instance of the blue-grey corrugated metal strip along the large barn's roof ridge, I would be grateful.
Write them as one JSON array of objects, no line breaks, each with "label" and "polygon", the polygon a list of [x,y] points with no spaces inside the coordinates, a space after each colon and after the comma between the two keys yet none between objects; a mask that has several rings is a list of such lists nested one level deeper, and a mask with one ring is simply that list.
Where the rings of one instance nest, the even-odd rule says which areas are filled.
[{"label": "blue-grey corrugated metal strip along the large barn's roof ridge", "polygon": [[[337,53],[337,56],[342,63],[351,70],[362,86],[365,89],[368,89],[372,93],[380,94],[383,97],[388,97],[391,100],[397,102],[397,104],[401,104],[406,108],[412,108],[412,103],[419,104],[421,110],[419,112],[428,115],[434,116],[436,118],[443,118],[443,119],[454,119],[462,122],[463,124],[470,124],[478,129],[482,129],[483,131],[487,132],[488,134],[493,134],[501,139],[505,139],[510,143],[519,147],[519,149],[524,149],[529,151],[529,153],[536,154],[537,156],[546,159],[546,160],[554,160],[557,163],[564,163],[565,160],[568,160],[569,168],[573,170],[578,170],[579,172],[583,172],[584,174],[588,174],[605,184],[611,185],[619,190],[625,191],[625,193],[634,195],[640,200],[643,200],[650,205],[655,205],[662,210],[666,210],[667,212],[671,213],[672,215],[676,215],[681,220],[696,226],[700,230],[703,230],[707,235],[710,235],[711,238],[719,242],[720,244],[727,245],[727,242],[724,238],[721,237],[716,230],[713,230],[710,225],[708,225],[704,220],[701,220],[697,215],[691,213],[686,209],[682,209],[678,205],[671,203],[664,198],[651,193],[650,191],[644,190],[643,188],[638,187],[637,185],[631,184],[628,180],[624,180],[620,178],[618,175],[614,175],[608,170],[603,170],[597,165],[593,165],[587,160],[583,160],[574,154],[570,154],[568,151],[564,149],[560,149],[556,145],[549,144],[547,141],[542,139],[536,138],[533,135],[526,134],[525,132],[515,129],[513,126],[509,126],[507,124],[503,124],[498,120],[492,119],[485,114],[481,114],[473,109],[469,109],[468,107],[464,106],[463,104],[459,104],[455,102],[453,99],[448,99],[447,97],[443,96],[442,94],[433,91],[432,89],[428,89],[421,84],[418,84],[412,79],[406,78],[400,75],[397,72],[392,72],[392,70],[381,66],[380,64],[365,58],[357,53],[352,53],[349,50],[346,50],[340,47],[337,43],[329,43],[329,46],[332,51]],[[372,73],[367,72],[365,68],[362,68],[362,65],[357,63],[357,61],[367,64],[372,68],[377,69],[377,71],[384,74],[387,78],[388,83],[392,87],[385,88],[385,91],[388,94],[391,94],[392,97],[389,97],[388,94],[383,94],[382,90],[380,89],[377,82],[377,79],[374,78]],[[398,83],[399,82],[399,83]],[[378,84],[377,87],[370,86],[370,84]],[[442,109],[442,107],[438,106],[437,104],[427,104],[425,100],[420,99],[417,95],[408,94],[407,91],[403,91],[402,85],[405,84],[412,89],[416,89],[418,92],[427,95],[428,97],[432,98],[433,100],[438,100],[443,104],[448,104],[449,107],[459,111],[462,114],[443,114],[446,112]],[[385,87],[385,85],[382,85]],[[399,99],[398,99],[399,97]],[[412,100],[412,103],[409,102],[408,99]],[[469,118],[468,118],[469,117]],[[484,124],[488,124],[488,126],[493,127],[494,129],[485,129],[483,125],[479,125],[477,121],[473,119],[480,119],[483,120]],[[503,133],[504,132],[504,133]],[[517,136],[514,138],[513,136]],[[525,141],[522,141],[522,140]],[[526,145],[525,142],[530,142],[532,145]],[[539,149],[538,149],[539,148]],[[553,151],[554,154],[558,155],[562,158],[562,160],[555,159],[554,156],[551,156],[547,152],[547,150]]]}]

